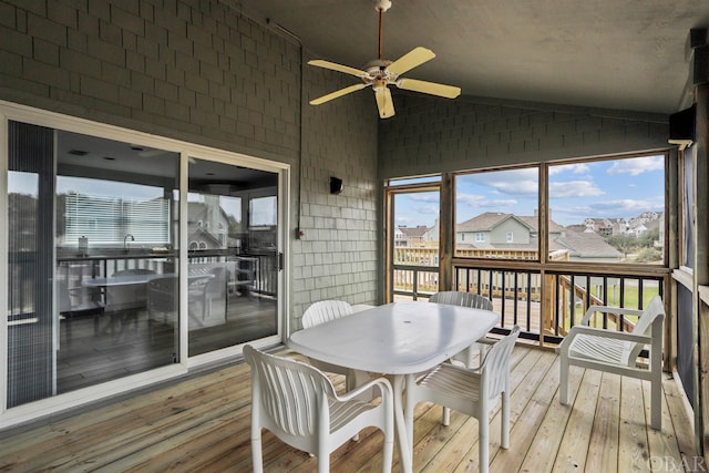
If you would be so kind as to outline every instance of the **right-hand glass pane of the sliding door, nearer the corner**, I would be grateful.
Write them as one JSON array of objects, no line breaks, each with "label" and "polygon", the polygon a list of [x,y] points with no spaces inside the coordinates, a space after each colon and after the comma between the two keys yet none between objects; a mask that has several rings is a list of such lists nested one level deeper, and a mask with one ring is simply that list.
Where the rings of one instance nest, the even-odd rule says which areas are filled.
[{"label": "right-hand glass pane of the sliding door, nearer the corner", "polygon": [[278,330],[278,174],[189,158],[188,354]]}]

